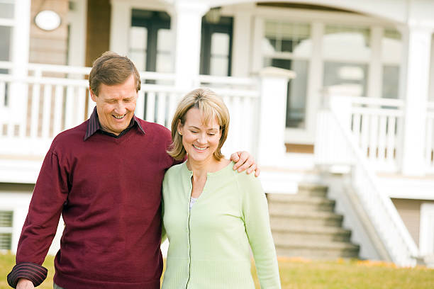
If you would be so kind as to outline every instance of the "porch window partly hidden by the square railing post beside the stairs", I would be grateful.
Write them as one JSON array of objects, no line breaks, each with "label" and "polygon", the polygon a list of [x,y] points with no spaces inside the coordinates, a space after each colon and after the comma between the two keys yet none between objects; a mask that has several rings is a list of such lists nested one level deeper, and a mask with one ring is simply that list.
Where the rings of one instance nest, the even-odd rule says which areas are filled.
[{"label": "porch window partly hidden by the square railing post beside the stairs", "polygon": [[262,39],[264,67],[290,69],[297,77],[288,83],[286,128],[305,128],[311,26],[304,23],[267,21]]}]

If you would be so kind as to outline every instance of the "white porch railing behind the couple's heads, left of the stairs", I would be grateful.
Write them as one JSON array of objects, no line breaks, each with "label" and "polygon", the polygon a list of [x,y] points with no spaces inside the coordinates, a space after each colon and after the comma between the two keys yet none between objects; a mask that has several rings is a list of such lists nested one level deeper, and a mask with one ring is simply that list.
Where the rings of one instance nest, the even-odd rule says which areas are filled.
[{"label": "white porch railing behind the couple's heads, left of the stairs", "polygon": [[[11,68],[10,62],[0,62],[0,69]],[[94,108],[84,79],[89,72],[89,67],[28,64],[28,77],[0,74],[0,155],[41,156],[57,133],[86,120]],[[140,77],[136,115],[169,128],[178,99],[194,87],[177,88],[174,74],[142,72]],[[231,119],[224,152],[254,152],[257,79],[200,76],[194,84],[211,87],[228,106]]]}]

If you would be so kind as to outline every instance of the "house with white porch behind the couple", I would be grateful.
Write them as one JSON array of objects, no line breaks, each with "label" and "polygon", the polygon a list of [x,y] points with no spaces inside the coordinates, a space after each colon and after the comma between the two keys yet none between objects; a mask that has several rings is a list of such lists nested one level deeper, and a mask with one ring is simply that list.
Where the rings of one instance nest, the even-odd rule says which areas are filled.
[{"label": "house with white porch behind the couple", "polygon": [[255,154],[269,195],[325,185],[360,258],[433,263],[432,1],[2,0],[0,11],[1,249],[16,249],[52,137],[91,113],[86,75],[113,50],[142,72],[141,118],[169,125],[179,96],[210,86],[231,113],[226,151]]}]

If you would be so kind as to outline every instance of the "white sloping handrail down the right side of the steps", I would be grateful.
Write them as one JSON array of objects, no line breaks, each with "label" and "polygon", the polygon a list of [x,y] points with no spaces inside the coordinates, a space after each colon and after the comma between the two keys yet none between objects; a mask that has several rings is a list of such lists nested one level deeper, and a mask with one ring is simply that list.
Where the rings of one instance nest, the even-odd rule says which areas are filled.
[{"label": "white sloping handrail down the right side of the steps", "polygon": [[[339,101],[347,103],[350,103],[351,97],[328,97],[330,98],[328,101],[329,107],[321,109],[318,113],[317,130],[321,130],[321,126],[325,126],[325,124],[334,125],[335,128],[338,128],[335,131],[340,132],[340,140],[345,142],[347,148],[346,152],[343,153],[349,154],[347,157],[350,162],[347,162],[347,164],[352,166],[351,177],[352,184],[355,186],[354,191],[364,210],[369,215],[379,239],[382,240],[394,263],[399,266],[415,266],[416,257],[419,256],[416,243],[413,241],[391,199],[379,190],[376,181],[377,176],[369,169],[369,163],[352,137],[350,129],[344,126],[345,117],[342,117],[342,111],[333,106],[333,103],[336,103],[336,101],[333,101],[333,97],[338,97],[340,98]],[[326,129],[330,129],[330,126]],[[321,136],[324,137],[321,133],[318,134],[318,137]],[[319,140],[319,142],[321,141],[324,140]],[[323,153],[321,149],[318,149],[318,151],[319,154]],[[317,160],[320,159],[320,163],[321,157],[323,156],[316,157]]]}]

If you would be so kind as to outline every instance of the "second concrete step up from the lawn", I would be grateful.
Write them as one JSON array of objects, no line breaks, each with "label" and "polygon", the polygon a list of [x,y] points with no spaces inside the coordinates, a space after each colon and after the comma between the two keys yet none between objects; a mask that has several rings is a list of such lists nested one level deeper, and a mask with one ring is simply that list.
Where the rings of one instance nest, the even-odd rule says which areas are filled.
[{"label": "second concrete step up from the lawn", "polygon": [[276,244],[291,242],[350,242],[351,231],[340,227],[273,227],[272,234]]}]

